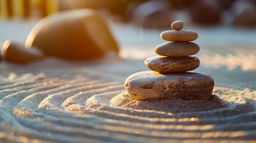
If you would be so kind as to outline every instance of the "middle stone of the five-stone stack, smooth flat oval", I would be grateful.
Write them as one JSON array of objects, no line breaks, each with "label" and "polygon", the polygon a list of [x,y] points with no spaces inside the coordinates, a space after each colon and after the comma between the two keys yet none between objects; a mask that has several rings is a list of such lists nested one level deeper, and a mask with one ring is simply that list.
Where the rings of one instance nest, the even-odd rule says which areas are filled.
[{"label": "middle stone of the five-stone stack, smooth flat oval", "polygon": [[167,57],[184,57],[194,55],[200,50],[198,44],[193,42],[167,42],[162,43],[155,48],[158,55]]}]

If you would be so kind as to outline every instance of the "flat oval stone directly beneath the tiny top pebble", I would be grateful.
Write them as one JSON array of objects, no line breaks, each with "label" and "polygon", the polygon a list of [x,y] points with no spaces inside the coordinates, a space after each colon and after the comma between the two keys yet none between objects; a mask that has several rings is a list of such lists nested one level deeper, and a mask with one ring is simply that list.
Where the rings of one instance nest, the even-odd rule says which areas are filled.
[{"label": "flat oval stone directly beneath the tiny top pebble", "polygon": [[198,33],[189,30],[168,30],[161,33],[161,38],[172,42],[187,42],[198,39]]}]

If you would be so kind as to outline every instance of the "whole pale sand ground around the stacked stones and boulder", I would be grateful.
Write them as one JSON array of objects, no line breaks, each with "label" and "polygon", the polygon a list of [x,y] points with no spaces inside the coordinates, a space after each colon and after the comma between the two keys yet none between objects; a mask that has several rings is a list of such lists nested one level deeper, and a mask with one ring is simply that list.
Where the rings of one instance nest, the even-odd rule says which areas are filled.
[{"label": "whole pale sand ground around the stacked stones and boulder", "polygon": [[[4,35],[18,41],[26,39],[32,26],[0,23]],[[21,35],[4,29],[21,30]],[[122,60],[112,55],[84,63],[55,58],[27,66],[1,63],[0,142],[254,142],[256,35],[218,30],[233,35],[232,40],[211,35],[216,30],[201,30],[201,40],[196,41],[202,47],[202,65],[196,71],[215,80],[209,101],[148,102],[128,97],[125,79],[147,70],[144,58],[164,42],[155,31],[116,26]],[[121,32],[140,36],[125,37]]]}]

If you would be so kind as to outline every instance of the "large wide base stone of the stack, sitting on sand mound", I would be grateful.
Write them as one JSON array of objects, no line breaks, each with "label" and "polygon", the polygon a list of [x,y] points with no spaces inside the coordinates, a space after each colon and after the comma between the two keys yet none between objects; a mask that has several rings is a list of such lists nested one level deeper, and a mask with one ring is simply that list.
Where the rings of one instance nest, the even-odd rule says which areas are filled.
[{"label": "large wide base stone of the stack, sitting on sand mound", "polygon": [[134,100],[209,100],[213,88],[211,76],[196,72],[161,74],[141,71],[125,80],[125,89]]}]

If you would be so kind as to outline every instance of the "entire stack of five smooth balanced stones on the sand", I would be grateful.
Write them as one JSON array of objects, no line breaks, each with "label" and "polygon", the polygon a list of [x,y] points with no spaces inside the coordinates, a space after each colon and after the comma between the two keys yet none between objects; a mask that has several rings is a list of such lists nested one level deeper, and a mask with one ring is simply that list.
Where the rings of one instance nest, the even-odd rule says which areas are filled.
[{"label": "entire stack of five smooth balanced stones on the sand", "polygon": [[199,67],[200,61],[191,55],[199,52],[195,41],[198,33],[181,30],[182,21],[171,24],[173,30],[161,33],[169,41],[155,48],[161,56],[150,57],[145,65],[152,71],[132,74],[125,81],[125,89],[134,100],[156,101],[165,99],[209,100],[214,80],[203,73],[191,72]]}]

